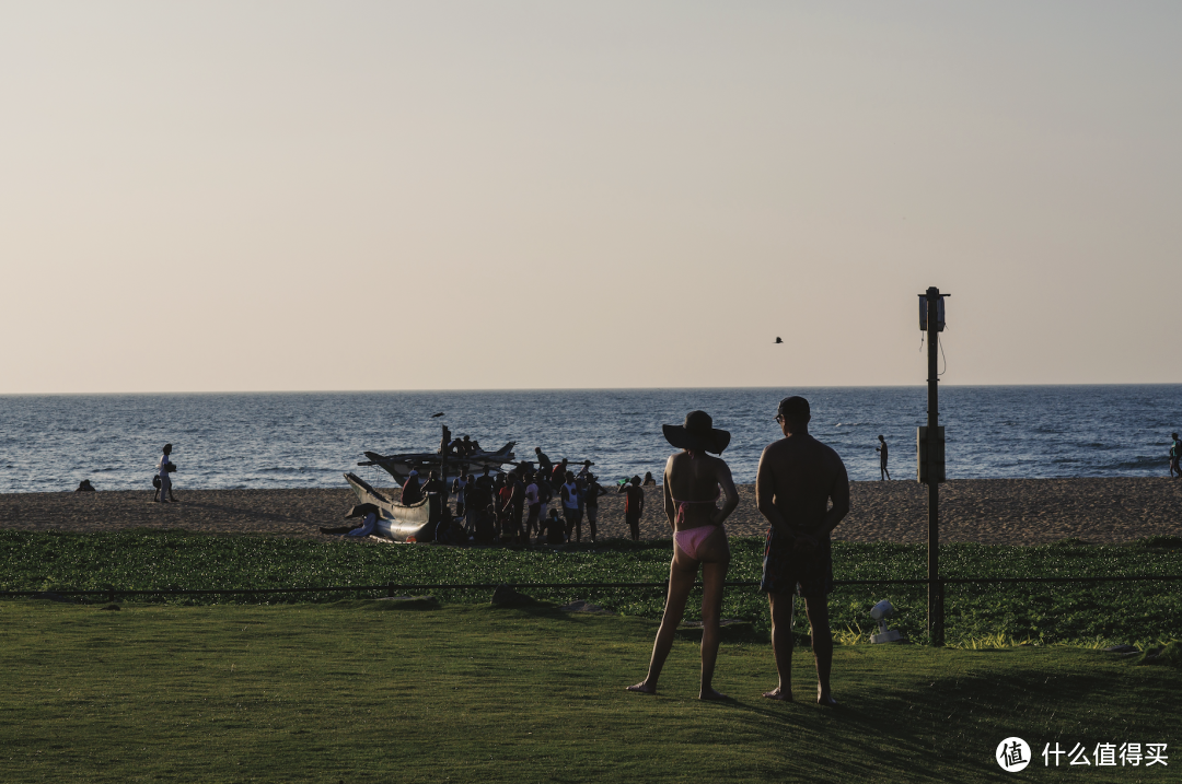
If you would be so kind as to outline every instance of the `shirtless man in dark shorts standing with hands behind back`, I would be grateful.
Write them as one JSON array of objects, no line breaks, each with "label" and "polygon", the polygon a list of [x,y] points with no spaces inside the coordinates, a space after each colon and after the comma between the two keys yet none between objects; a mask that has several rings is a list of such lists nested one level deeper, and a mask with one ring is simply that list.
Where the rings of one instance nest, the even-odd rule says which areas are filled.
[{"label": "shirtless man in dark shorts standing with hands behind back", "polygon": [[833,664],[827,599],[833,589],[833,562],[829,535],[850,511],[850,481],[837,452],[808,435],[808,419],[807,400],[799,397],[780,400],[775,422],[784,438],[764,450],[755,477],[755,503],[771,524],[760,589],[772,607],[772,649],[780,675],[777,687],[764,697],[792,701],[792,594],[799,589],[808,612],[817,660],[817,703],[833,707],[837,700],[829,688]]}]

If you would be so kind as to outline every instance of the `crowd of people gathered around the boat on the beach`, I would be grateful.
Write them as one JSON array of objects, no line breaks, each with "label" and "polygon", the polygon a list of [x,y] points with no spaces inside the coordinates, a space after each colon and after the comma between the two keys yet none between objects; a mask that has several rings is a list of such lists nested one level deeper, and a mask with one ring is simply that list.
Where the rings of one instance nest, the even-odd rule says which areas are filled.
[{"label": "crowd of people gathered around the boat on the beach", "polygon": [[479,477],[456,477],[450,486],[437,471],[430,471],[423,482],[417,471],[411,471],[400,501],[411,505],[429,494],[444,495],[443,517],[435,531],[440,543],[530,547],[582,542],[584,522],[591,542],[597,542],[599,498],[616,492],[624,495],[624,521],[632,541],[639,541],[644,485],[656,484],[651,472],[644,479],[634,476],[610,489],[591,472],[591,460],[577,466],[566,458],[551,462],[541,447],[534,452],[537,466],[527,462],[495,475],[485,469]]}]

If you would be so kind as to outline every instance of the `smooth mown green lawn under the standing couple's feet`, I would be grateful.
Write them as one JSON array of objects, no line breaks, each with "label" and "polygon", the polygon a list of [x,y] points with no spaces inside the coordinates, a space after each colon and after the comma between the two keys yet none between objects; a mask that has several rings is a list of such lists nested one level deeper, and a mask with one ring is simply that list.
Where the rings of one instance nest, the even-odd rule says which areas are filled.
[{"label": "smooth mown green lawn under the standing couple's feet", "polygon": [[[678,641],[656,698],[628,694],[647,619],[551,606],[394,602],[177,607],[0,603],[5,782],[1170,780],[1171,769],[1044,767],[1043,745],[1167,743],[1182,672],[1069,647],[838,646],[837,710],[797,651],[773,704],[766,643],[725,643],[703,704]],[[1176,765],[1176,762],[1170,760]],[[1176,778],[1176,776],[1174,776]]]}]

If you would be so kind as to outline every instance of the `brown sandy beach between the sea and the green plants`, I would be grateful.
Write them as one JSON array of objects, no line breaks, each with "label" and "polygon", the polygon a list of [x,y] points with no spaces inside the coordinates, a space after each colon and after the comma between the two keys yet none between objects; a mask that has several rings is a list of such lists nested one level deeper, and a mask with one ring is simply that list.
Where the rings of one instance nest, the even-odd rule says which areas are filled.
[{"label": "brown sandy beach between the sea and the green plants", "polygon": [[[762,536],[753,485],[727,524],[732,536]],[[0,528],[37,531],[118,531],[168,528],[207,534],[254,534],[329,540],[317,529],[339,525],[355,503],[340,490],[186,490],[177,504],[151,503],[149,491],[0,495]],[[1044,544],[1067,537],[1115,544],[1144,536],[1182,535],[1182,481],[959,479],[941,485],[941,541]],[[650,488],[644,538],[668,538],[661,489]],[[834,531],[851,542],[927,541],[927,488],[915,482],[856,482],[852,509]],[[602,499],[600,537],[626,535],[622,496]],[[587,529],[584,523],[584,536]]]}]

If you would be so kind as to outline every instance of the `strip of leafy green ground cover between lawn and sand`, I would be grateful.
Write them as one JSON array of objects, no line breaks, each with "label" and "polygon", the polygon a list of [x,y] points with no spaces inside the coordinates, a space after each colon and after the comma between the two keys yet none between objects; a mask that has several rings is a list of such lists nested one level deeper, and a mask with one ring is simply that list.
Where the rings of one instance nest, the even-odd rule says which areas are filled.
[{"label": "strip of leafy green ground cover between lawn and sand", "polygon": [[[459,549],[428,545],[365,545],[281,537],[207,536],[184,531],[34,534],[0,531],[0,588],[65,590],[106,588],[281,588],[366,586],[390,581],[448,582],[648,582],[668,574],[671,543],[616,541],[570,550]],[[759,540],[732,541],[732,580],[758,580]],[[927,549],[909,544],[834,543],[839,579],[907,579],[926,575]],[[952,544],[941,548],[943,576],[1072,576],[1182,574],[1182,540],[1157,537],[1119,547],[1078,541],[1043,547]],[[1148,647],[1182,629],[1177,582],[1099,584],[949,586],[947,640],[989,647],[1009,641]],[[446,592],[448,602],[487,599],[487,592]],[[592,600],[625,615],[656,619],[660,590],[537,589],[537,599],[565,603]],[[288,594],[262,601],[335,601],[339,594]],[[834,633],[864,641],[870,607],[890,599],[892,626],[924,640],[927,594],[922,586],[843,587],[831,596]],[[177,603],[260,601],[230,596],[160,597]],[[727,592],[723,614],[752,622],[766,639],[765,597],[754,588]],[[689,614],[693,618],[693,610]],[[803,613],[795,629],[807,633]],[[844,635],[844,636],[843,636]],[[994,642],[991,642],[993,640]]]}]

